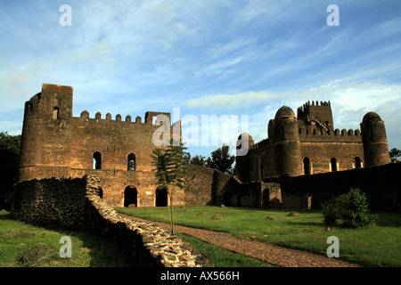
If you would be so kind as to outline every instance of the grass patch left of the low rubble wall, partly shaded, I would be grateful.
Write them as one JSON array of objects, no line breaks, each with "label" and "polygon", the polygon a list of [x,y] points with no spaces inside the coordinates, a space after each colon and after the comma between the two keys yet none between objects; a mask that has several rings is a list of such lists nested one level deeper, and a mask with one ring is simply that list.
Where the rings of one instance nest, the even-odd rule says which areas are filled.
[{"label": "grass patch left of the low rubble wall, partly shaded", "polygon": [[[72,256],[61,258],[59,243],[69,236]],[[17,262],[35,248],[49,249],[44,256],[30,256],[29,263]],[[38,249],[37,249],[38,250]],[[8,212],[0,211],[0,267],[127,267],[129,260],[108,240],[86,232],[61,229],[56,226],[32,225],[13,219]]]}]

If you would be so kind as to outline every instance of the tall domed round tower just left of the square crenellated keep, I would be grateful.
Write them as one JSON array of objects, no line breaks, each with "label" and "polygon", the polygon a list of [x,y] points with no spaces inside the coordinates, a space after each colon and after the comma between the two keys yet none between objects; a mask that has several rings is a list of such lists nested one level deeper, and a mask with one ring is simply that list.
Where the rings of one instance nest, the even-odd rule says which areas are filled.
[{"label": "tall domed round tower just left of the square crenellated keep", "polygon": [[299,127],[294,111],[282,106],[272,125],[276,175],[302,175]]}]

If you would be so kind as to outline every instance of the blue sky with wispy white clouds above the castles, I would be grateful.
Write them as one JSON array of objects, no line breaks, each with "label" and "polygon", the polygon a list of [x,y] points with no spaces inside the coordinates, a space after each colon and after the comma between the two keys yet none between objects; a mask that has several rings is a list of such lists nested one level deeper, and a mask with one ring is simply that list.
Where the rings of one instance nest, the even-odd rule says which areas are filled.
[{"label": "blue sky with wispy white clouds above the castles", "polygon": [[[71,26],[60,25],[62,4]],[[326,23],[330,4],[340,26]],[[257,142],[282,105],[330,101],[335,128],[357,129],[376,111],[389,148],[401,149],[398,0],[1,0],[0,35],[9,134],[20,134],[24,102],[51,83],[73,86],[74,117],[248,116]],[[192,155],[217,149],[189,144]]]}]

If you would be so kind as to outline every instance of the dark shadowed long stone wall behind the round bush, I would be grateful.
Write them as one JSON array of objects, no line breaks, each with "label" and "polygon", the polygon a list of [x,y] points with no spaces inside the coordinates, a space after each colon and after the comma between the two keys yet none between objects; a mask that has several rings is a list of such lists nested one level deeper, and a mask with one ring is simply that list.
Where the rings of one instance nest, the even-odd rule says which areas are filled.
[{"label": "dark shadowed long stone wall behind the round bush", "polygon": [[364,167],[319,175],[280,178],[282,207],[321,208],[322,203],[349,189],[359,188],[367,196],[369,208],[401,210],[401,163]]}]

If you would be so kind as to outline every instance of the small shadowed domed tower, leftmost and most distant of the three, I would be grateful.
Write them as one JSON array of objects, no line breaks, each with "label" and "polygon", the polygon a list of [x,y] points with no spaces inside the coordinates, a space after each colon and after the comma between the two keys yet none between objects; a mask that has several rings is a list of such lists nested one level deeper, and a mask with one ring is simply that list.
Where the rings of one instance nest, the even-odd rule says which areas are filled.
[{"label": "small shadowed domed tower, leftmost and most distant of the three", "polygon": [[235,175],[241,181],[250,181],[250,147],[253,143],[253,139],[248,133],[242,133],[238,136]]}]

